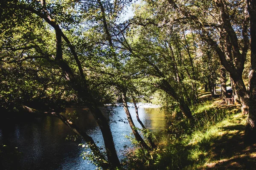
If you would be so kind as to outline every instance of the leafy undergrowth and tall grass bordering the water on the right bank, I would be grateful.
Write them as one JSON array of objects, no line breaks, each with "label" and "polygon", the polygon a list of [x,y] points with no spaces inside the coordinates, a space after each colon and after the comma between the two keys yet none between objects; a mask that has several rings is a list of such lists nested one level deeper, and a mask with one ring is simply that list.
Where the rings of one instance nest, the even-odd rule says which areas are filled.
[{"label": "leafy undergrowth and tall grass bordering the water on the right bank", "polygon": [[125,168],[175,170],[202,167],[214,159],[214,153],[207,150],[221,135],[220,127],[229,124],[234,115],[240,115],[235,108],[221,108],[212,101],[194,106],[194,125],[189,125],[188,120],[184,119],[172,120],[166,130],[166,141],[151,152],[136,149],[127,154]]}]

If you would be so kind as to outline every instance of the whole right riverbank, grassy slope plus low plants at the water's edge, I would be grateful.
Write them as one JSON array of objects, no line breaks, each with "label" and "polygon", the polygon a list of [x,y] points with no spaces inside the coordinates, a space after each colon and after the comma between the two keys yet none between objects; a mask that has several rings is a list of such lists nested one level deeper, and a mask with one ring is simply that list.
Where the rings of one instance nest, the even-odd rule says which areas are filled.
[{"label": "whole right riverbank, grassy slope plus low plants at the water's edge", "polygon": [[[190,134],[187,129],[181,129],[184,133],[180,139],[168,134],[168,138],[160,142],[157,150],[148,153],[148,156],[140,156],[142,151],[137,150],[129,157],[129,168],[256,169],[256,144],[244,144],[247,116],[241,115],[240,106],[224,105],[220,99],[211,99],[192,110],[196,123]],[[143,162],[139,164],[138,159]],[[141,166],[141,163],[144,165]]]}]

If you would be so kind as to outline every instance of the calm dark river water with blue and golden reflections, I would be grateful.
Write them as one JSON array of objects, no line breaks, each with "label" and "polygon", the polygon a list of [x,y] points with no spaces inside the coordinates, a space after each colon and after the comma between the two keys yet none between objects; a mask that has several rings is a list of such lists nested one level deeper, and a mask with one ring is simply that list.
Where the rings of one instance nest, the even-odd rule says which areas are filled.
[{"label": "calm dark river water with blue and golden reflections", "polygon": [[[165,113],[160,108],[148,108],[139,104],[139,115],[145,126],[160,136],[166,126]],[[135,109],[129,108],[134,123],[137,122]],[[75,111],[75,112],[74,112]],[[107,115],[113,140],[119,159],[123,159],[124,146],[132,147],[126,135],[131,133],[122,106],[103,109]],[[71,114],[70,114],[71,113]],[[87,110],[83,107],[66,108],[74,122],[104,146],[99,127]],[[79,119],[76,119],[79,117]],[[66,140],[67,136],[76,135],[61,120],[54,117],[35,118],[22,121],[6,121],[0,124],[0,169],[7,170],[93,170],[96,167],[80,156],[84,148],[78,146],[84,143],[81,139]],[[3,145],[5,145],[3,147]],[[0,150],[1,151],[1,150]],[[15,154],[13,154],[15,152]],[[19,152],[16,154],[16,152]]]}]

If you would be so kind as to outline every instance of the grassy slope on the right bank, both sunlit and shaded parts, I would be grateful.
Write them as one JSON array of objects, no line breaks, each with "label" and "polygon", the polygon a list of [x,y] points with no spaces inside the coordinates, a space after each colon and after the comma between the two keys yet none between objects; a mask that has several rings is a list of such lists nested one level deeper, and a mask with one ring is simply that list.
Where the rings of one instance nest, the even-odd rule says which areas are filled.
[{"label": "grassy slope on the right bank, both sunlit and shaded parts", "polygon": [[199,119],[184,142],[190,163],[183,169],[256,169],[256,145],[243,142],[247,116],[241,115],[240,106],[215,99],[199,105],[194,113]]}]

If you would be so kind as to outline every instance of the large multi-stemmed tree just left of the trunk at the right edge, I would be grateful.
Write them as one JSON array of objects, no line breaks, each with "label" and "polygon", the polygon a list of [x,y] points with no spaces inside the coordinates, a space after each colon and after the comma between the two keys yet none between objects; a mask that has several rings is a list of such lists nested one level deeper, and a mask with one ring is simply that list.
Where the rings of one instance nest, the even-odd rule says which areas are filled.
[{"label": "large multi-stemmed tree just left of the trunk at the right edge", "polygon": [[[221,64],[230,73],[230,77],[234,81],[234,90],[241,101],[242,113],[247,114],[249,94],[242,79],[244,62],[249,47],[247,29],[249,17],[246,3],[223,0],[207,1],[205,3],[198,1],[197,3],[187,4],[180,2],[178,4],[173,0],[168,2],[175,10],[183,14],[183,17],[179,18],[192,22],[190,23],[192,28],[200,31],[201,38],[212,45],[221,60]],[[236,8],[231,10],[229,7],[233,4],[236,4]],[[189,8],[192,7],[195,7],[195,9],[189,11]],[[233,16],[233,18],[231,19],[230,16]],[[236,30],[239,30],[241,34],[236,32],[233,26],[236,26]],[[223,43],[218,43],[216,37],[222,37]]]}]

